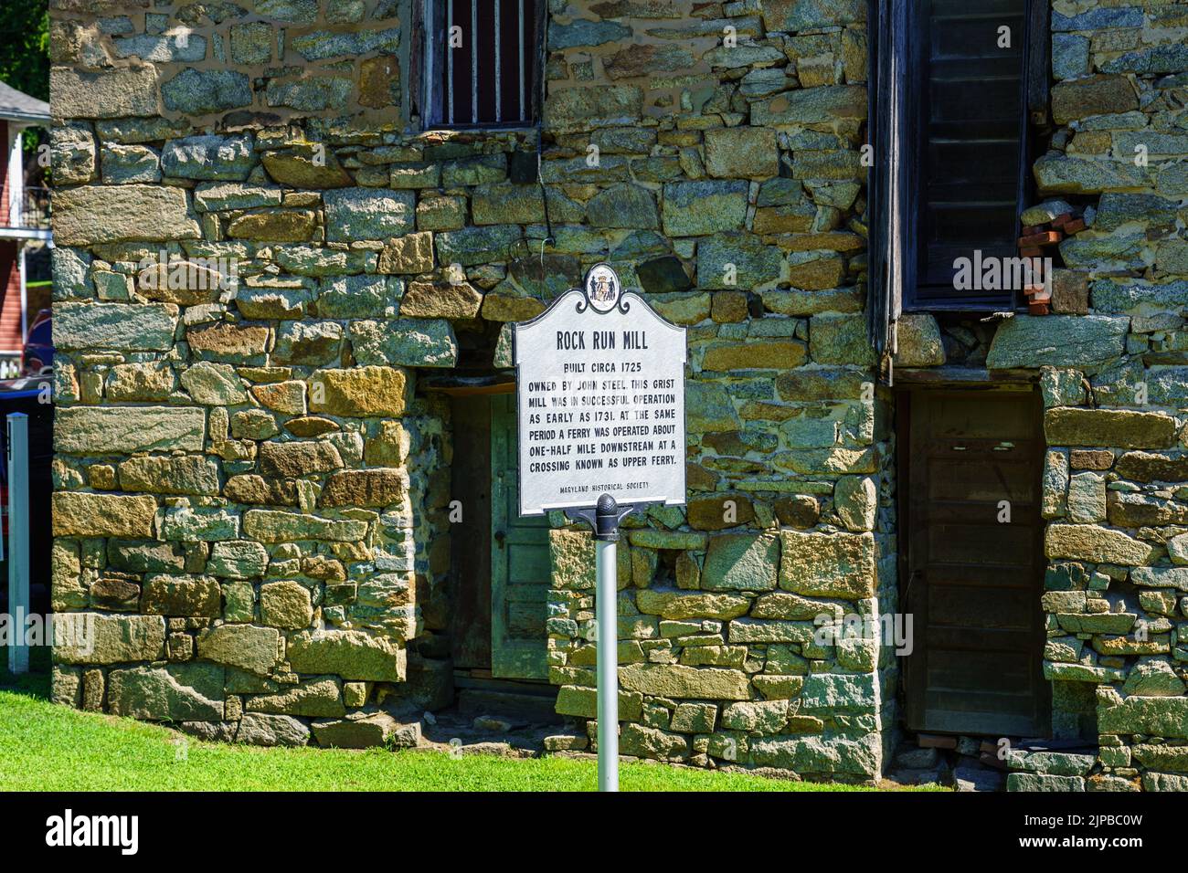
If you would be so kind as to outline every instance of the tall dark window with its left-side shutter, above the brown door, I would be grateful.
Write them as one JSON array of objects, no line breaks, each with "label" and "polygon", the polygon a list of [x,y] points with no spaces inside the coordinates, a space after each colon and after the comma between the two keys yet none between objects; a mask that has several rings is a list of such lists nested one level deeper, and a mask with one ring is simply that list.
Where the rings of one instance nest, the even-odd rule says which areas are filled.
[{"label": "tall dark window with its left-side shutter, above the brown door", "polygon": [[[1017,290],[958,289],[953,277],[958,258],[1017,252],[1030,190],[1028,121],[1048,118],[1050,13],[1047,0],[867,5],[867,320],[886,368],[904,310],[1015,305]],[[1013,62],[1010,45],[987,51],[999,20],[1023,31]]]}]

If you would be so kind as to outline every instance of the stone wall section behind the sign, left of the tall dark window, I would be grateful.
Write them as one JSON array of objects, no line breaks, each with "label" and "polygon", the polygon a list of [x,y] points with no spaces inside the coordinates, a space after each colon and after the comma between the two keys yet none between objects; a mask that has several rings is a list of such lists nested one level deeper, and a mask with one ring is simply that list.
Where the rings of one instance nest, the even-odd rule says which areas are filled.
[{"label": "stone wall section behind the sign, left of the tall dark window", "polygon": [[[691,360],[690,506],[624,551],[625,751],[877,776],[895,663],[814,641],[893,564],[861,5],[769,6],[552,4],[546,216],[533,131],[410,122],[405,4],[59,4],[55,590],[108,628],[59,697],[335,741],[410,652],[441,678],[449,422],[416,382],[506,366],[499,325],[608,260]],[[238,284],[147,281],[159,249]],[[588,540],[554,543],[551,679],[588,716]]]}]

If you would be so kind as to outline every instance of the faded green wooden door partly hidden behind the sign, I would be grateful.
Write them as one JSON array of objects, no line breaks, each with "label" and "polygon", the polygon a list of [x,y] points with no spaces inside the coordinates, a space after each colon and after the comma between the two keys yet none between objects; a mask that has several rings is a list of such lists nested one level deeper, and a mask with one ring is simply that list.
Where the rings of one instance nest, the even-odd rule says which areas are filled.
[{"label": "faded green wooden door partly hidden behind the sign", "polygon": [[516,396],[491,399],[491,673],[546,679],[549,523],[520,518]]}]

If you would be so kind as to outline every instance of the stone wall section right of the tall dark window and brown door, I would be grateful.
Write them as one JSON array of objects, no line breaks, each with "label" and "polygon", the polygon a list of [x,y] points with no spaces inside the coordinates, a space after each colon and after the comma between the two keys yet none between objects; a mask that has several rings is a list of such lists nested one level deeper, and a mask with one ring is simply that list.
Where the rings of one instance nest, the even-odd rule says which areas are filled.
[{"label": "stone wall section right of the tall dark window and brown door", "polygon": [[1188,789],[1186,29],[1180,2],[1053,4],[1034,175],[1089,227],[1060,246],[1062,315],[999,328],[988,365],[1042,367],[1044,673],[1056,735],[1099,753],[1020,755],[1050,776],[1017,789]]}]

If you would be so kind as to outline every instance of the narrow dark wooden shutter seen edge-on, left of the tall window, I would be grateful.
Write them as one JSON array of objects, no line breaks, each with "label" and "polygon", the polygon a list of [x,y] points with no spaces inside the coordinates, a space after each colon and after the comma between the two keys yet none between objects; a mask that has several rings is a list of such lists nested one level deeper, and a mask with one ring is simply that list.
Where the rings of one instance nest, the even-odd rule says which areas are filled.
[{"label": "narrow dark wooden shutter seen edge-on, left of the tall window", "polygon": [[868,268],[867,325],[880,366],[897,350],[896,328],[903,312],[909,265],[908,171],[908,2],[867,0],[867,139],[872,166],[867,179]]}]

